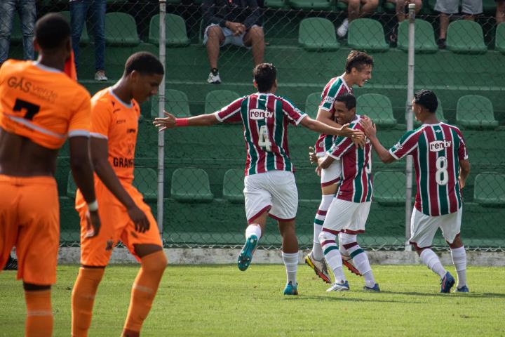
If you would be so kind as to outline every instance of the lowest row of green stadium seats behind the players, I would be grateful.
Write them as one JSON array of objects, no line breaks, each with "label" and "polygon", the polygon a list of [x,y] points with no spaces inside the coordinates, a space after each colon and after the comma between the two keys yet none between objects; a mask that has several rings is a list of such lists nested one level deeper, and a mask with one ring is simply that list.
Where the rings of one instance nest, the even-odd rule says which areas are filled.
[{"label": "lowest row of green stadium seats behind the players", "polygon": [[[374,200],[384,206],[405,204],[405,173],[379,171],[374,175]],[[156,171],[146,167],[135,168],[133,184],[142,192],[144,199],[155,201],[157,192]],[[232,203],[243,203],[243,170],[229,169],[222,183],[223,199]],[[76,186],[69,173],[67,197],[75,197]],[[203,169],[176,169],[171,180],[170,195],[179,202],[210,202],[214,199],[210,191],[207,172]],[[473,187],[473,201],[481,206],[503,206],[505,204],[505,175],[479,173]]]}]

